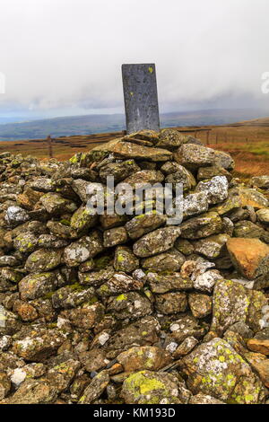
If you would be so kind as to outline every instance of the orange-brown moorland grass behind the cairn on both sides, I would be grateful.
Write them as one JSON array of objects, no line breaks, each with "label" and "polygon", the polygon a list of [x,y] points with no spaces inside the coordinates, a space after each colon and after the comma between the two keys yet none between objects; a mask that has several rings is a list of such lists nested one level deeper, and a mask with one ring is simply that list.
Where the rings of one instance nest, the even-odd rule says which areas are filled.
[{"label": "orange-brown moorland grass behind the cairn on both sides", "polygon": [[[178,127],[178,130],[198,137],[205,145],[230,153],[236,162],[236,176],[269,174],[269,124],[262,127]],[[61,161],[68,160],[77,152],[89,151],[96,145],[122,135],[122,132],[115,132],[57,137],[52,143],[53,156]],[[48,143],[44,139],[0,142],[0,153],[4,151],[49,159]]]}]

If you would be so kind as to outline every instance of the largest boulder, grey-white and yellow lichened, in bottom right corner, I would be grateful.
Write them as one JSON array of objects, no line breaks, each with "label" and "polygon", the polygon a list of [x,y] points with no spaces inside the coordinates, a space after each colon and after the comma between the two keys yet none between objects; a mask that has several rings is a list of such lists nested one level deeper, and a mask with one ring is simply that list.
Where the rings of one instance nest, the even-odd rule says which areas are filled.
[{"label": "largest boulder, grey-white and yellow lichened, in bottom right corner", "polygon": [[194,394],[204,393],[235,404],[265,401],[262,382],[244,359],[221,338],[196,347],[180,362],[187,386]]}]

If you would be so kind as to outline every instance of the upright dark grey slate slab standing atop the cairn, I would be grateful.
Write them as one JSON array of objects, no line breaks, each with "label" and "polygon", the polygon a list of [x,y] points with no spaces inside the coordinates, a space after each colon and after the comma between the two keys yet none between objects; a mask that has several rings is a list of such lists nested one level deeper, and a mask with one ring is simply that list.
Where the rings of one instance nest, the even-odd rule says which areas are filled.
[{"label": "upright dark grey slate slab standing atop the cairn", "polygon": [[154,64],[122,65],[127,133],[152,129],[159,132],[160,118]]}]

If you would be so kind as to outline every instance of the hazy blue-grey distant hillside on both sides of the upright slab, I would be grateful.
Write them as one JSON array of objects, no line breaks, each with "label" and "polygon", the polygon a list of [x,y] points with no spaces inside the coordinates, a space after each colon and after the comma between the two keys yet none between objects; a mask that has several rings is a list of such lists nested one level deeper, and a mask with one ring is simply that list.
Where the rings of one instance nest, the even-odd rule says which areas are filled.
[{"label": "hazy blue-grey distant hillside on both sides of the upright slab", "polygon": [[[263,110],[196,110],[161,114],[161,127],[226,125],[241,120],[264,118]],[[0,140],[91,135],[116,132],[126,127],[123,114],[100,114],[33,120],[0,125]]]}]

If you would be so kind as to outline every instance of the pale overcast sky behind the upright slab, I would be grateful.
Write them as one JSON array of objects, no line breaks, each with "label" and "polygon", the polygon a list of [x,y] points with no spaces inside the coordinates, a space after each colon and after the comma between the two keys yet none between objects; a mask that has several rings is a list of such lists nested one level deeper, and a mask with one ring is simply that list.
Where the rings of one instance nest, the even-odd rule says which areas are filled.
[{"label": "pale overcast sky behind the upright slab", "polygon": [[[268,0],[0,0],[2,113],[123,110],[122,63],[157,67],[161,110],[267,107]],[[269,109],[269,107],[268,107]]]}]

